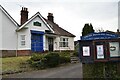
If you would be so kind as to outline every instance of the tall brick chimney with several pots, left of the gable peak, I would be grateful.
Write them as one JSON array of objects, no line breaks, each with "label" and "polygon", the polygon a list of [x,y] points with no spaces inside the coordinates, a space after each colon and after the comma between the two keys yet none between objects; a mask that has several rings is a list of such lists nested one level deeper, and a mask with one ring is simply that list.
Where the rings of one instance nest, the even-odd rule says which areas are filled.
[{"label": "tall brick chimney with several pots, left of the gable peak", "polygon": [[28,20],[28,9],[25,7],[22,7],[21,10],[21,25],[24,24]]}]

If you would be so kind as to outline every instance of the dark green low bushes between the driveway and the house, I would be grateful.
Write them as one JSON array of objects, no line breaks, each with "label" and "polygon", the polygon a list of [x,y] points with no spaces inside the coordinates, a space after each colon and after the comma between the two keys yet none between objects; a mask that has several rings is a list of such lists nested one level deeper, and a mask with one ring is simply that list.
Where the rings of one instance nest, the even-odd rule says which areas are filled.
[{"label": "dark green low bushes between the driveway and the house", "polygon": [[31,65],[31,67],[37,69],[56,67],[59,64],[70,62],[70,54],[69,53],[33,54],[27,62]]}]

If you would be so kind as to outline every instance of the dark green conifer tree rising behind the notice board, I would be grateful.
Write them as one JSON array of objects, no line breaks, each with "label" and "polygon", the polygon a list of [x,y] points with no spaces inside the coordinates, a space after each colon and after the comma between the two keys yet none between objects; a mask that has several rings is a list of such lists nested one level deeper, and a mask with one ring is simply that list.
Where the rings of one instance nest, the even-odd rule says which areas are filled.
[{"label": "dark green conifer tree rising behind the notice board", "polygon": [[94,29],[93,29],[93,26],[92,24],[90,23],[90,25],[88,23],[86,23],[83,27],[83,30],[82,30],[82,36],[85,36],[89,33],[93,33],[94,32]]}]

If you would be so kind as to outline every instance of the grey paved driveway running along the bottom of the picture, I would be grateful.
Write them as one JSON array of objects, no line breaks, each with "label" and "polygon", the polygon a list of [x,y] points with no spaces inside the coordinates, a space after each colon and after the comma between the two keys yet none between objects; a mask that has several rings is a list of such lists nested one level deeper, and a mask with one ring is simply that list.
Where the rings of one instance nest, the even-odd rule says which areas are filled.
[{"label": "grey paved driveway running along the bottom of the picture", "polygon": [[82,64],[74,63],[46,70],[10,74],[4,78],[82,78]]}]

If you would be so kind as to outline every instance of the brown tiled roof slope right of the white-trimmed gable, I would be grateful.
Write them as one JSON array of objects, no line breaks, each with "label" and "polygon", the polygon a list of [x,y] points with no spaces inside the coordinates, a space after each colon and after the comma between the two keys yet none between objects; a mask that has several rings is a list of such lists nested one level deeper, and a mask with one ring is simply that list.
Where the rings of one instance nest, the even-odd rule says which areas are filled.
[{"label": "brown tiled roof slope right of the white-trimmed gable", "polygon": [[52,29],[54,30],[54,34],[60,35],[60,36],[75,37],[75,35],[73,35],[70,32],[68,32],[68,31],[64,30],[63,28],[59,27],[58,24],[56,24],[54,22],[51,22],[47,19],[45,19],[45,21],[52,27]]}]

